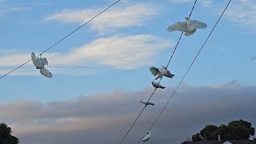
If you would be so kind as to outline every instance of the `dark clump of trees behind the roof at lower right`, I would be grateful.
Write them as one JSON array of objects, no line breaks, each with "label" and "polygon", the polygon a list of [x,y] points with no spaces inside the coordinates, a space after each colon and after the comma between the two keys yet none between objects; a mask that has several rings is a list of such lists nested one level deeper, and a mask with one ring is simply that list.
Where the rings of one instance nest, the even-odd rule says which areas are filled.
[{"label": "dark clump of trees behind the roof at lower right", "polygon": [[221,126],[206,125],[199,133],[192,136],[192,141],[218,140],[218,135],[222,140],[246,140],[250,136],[254,136],[254,131],[250,122],[240,119],[230,122],[227,126],[223,124]]}]

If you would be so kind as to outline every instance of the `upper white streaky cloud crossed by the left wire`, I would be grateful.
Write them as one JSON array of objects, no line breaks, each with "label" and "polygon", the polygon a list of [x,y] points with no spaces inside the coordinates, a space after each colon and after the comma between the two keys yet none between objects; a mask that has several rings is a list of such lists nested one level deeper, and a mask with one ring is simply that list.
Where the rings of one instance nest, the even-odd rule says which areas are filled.
[{"label": "upper white streaky cloud crossed by the left wire", "polygon": [[[62,10],[57,14],[44,18],[45,22],[60,21],[67,23],[85,23],[102,9]],[[113,7],[90,22],[91,29],[106,33],[117,28],[142,26],[145,21],[158,13],[158,6],[134,4],[132,6]]]}]

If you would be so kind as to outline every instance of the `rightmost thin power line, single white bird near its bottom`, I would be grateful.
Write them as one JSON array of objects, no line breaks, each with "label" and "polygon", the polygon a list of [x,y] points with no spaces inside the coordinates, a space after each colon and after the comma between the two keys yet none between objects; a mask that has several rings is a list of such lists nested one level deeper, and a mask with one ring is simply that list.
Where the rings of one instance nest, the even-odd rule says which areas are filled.
[{"label": "rightmost thin power line, single white bird near its bottom", "polygon": [[[230,2],[231,2],[231,1],[232,1],[232,0],[230,0]],[[207,41],[208,41],[208,39],[210,38],[210,35],[213,33],[213,31],[214,31],[215,27],[217,26],[217,24],[218,24],[219,20],[222,18],[222,15],[225,13],[226,8],[230,5],[230,2],[228,2],[228,3],[227,3],[227,5],[226,5],[225,9],[222,11],[221,16],[218,18],[218,21],[215,23],[214,28],[210,31],[210,34],[209,34],[209,35],[208,35],[208,37],[206,38],[206,41],[202,44],[201,49],[198,51],[198,54],[195,56],[195,58],[194,58],[193,62],[190,64],[190,66],[189,66],[188,70],[186,70],[186,73],[185,73],[185,74],[184,74],[184,76],[182,77],[182,80],[178,83],[178,86],[175,88],[175,90],[174,90],[173,94],[171,94],[171,96],[170,96],[169,100],[166,102],[166,105],[163,107],[163,109],[161,110],[160,114],[158,115],[158,117],[157,117],[157,118],[155,119],[155,121],[153,122],[152,126],[150,126],[149,131],[153,128],[153,126],[155,125],[155,123],[158,121],[158,118],[161,116],[162,112],[166,109],[166,106],[169,104],[169,102],[170,102],[171,98],[173,98],[173,97],[174,97],[174,94],[175,94],[175,93],[176,93],[176,91],[178,90],[178,87],[181,85],[182,81],[183,81],[183,80],[184,80],[184,78],[186,77],[186,74],[188,74],[188,72],[190,71],[190,68],[193,66],[193,64],[194,64],[195,60],[198,58],[198,55],[201,53],[201,51],[202,51],[203,47],[206,45],[206,42],[207,42]],[[141,142],[141,140],[140,140],[140,141],[138,141],[138,143],[139,143],[139,142]],[[137,144],[138,144],[138,143],[137,143]]]}]

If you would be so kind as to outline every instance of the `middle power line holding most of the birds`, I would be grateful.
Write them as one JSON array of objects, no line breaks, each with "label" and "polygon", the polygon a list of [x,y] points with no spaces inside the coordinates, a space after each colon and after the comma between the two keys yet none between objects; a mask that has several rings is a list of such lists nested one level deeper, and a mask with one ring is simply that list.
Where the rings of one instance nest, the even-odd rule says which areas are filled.
[{"label": "middle power line holding most of the birds", "polygon": [[[195,6],[196,2],[197,2],[197,0],[194,1],[194,6]],[[191,16],[191,14],[192,14],[192,12],[193,12],[193,10],[194,10],[194,6],[192,7],[192,10],[190,11],[190,16]],[[189,18],[190,18],[190,16],[189,16]],[[182,32],[182,34],[183,34],[183,32]],[[172,53],[171,56],[170,56],[170,59],[169,59],[169,62],[167,63],[166,68],[169,66],[170,60],[171,60],[171,59],[173,58],[173,56],[174,56],[174,53],[175,53],[175,51],[176,51],[176,49],[177,49],[177,47],[178,47],[178,43],[180,42],[180,40],[181,40],[181,38],[182,38],[182,34],[181,34],[180,37],[178,38],[178,42],[177,42],[177,44],[176,44],[176,46],[175,46],[175,48],[174,48],[173,53]],[[161,82],[161,80],[162,80],[162,78],[160,78],[160,80],[159,80],[159,82],[158,82],[158,85],[159,85],[159,83]],[[155,92],[156,90],[157,90],[157,88],[154,88],[154,91],[153,91],[153,93],[150,95],[150,98],[148,99],[147,102],[150,102],[150,99],[153,97],[154,92]],[[135,121],[133,122],[133,124],[130,126],[129,130],[126,132],[125,136],[122,138],[122,140],[121,140],[121,142],[119,142],[119,144],[121,144],[121,143],[124,141],[124,139],[126,138],[127,134],[130,133],[130,130],[134,127],[134,124],[138,121],[138,118],[141,116],[141,114],[142,114],[142,112],[145,110],[145,108],[146,108],[146,105],[142,108],[141,112],[138,114],[137,118],[135,119]]]}]

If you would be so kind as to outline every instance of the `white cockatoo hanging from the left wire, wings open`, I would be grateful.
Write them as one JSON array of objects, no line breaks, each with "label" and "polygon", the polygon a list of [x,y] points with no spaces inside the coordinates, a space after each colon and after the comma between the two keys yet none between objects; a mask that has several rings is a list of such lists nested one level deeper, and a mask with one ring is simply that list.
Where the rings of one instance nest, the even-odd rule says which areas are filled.
[{"label": "white cockatoo hanging from the left wire, wings open", "polygon": [[53,74],[51,74],[51,72],[49,70],[46,70],[46,68],[44,67],[45,65],[48,65],[47,59],[41,57],[42,55],[40,55],[40,58],[36,58],[34,52],[32,52],[31,54],[32,62],[37,69],[40,69],[40,73],[47,78],[52,78]]}]

